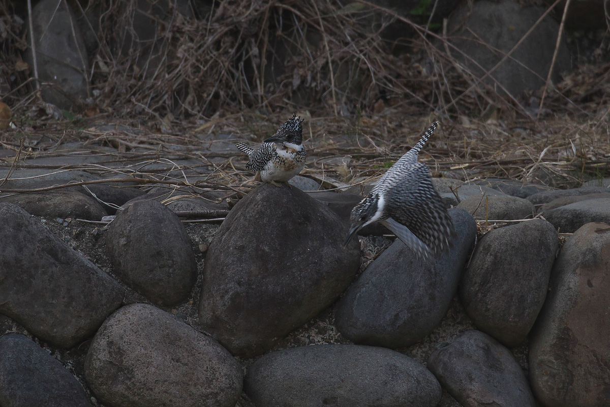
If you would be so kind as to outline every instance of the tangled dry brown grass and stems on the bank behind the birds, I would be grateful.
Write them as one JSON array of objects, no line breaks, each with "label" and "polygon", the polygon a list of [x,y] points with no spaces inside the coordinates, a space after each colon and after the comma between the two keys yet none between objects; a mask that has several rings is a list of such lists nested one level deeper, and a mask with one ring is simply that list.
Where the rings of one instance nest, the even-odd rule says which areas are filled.
[{"label": "tangled dry brown grass and stems on the bank behind the birds", "polygon": [[[89,21],[98,41],[88,73],[95,109],[89,104],[85,118],[67,115],[58,122],[53,116],[61,113],[34,102],[34,85],[18,56],[27,46],[24,23],[10,18],[0,0],[0,47],[10,56],[0,62],[0,90],[16,113],[16,129],[0,142],[20,151],[14,165],[78,141],[111,146],[134,162],[201,160],[213,168],[210,185],[239,190],[249,179],[239,151],[198,150],[201,140],[220,134],[261,140],[296,111],[306,118],[304,175],[325,180],[326,187],[372,181],[432,118],[442,128],[422,159],[437,176],[567,187],[610,173],[609,63],[580,66],[526,98],[500,96],[452,58],[456,51],[442,30],[428,31],[365,1],[231,0],[201,18],[170,8],[156,18],[151,43],[134,41],[131,23],[142,14],[134,1],[95,4],[83,10],[97,16]],[[411,59],[393,56],[381,36],[393,21],[415,32],[407,44]],[[102,123],[142,132],[101,132]],[[219,156],[226,162],[210,164]],[[332,157],[337,160],[329,163]],[[2,161],[13,165],[12,158]],[[167,181],[162,171],[154,179]]]}]

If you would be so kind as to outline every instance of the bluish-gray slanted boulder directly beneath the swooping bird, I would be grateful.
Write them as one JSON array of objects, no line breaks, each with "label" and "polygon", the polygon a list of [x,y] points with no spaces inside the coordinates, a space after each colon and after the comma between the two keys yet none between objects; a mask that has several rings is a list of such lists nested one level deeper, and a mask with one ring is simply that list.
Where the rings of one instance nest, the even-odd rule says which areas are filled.
[{"label": "bluish-gray slanted boulder directly beneath the swooping bird", "polygon": [[475,242],[476,224],[450,209],[458,237],[436,263],[421,262],[403,242],[368,265],[336,310],[336,325],[357,344],[399,348],[414,344],[447,313]]}]

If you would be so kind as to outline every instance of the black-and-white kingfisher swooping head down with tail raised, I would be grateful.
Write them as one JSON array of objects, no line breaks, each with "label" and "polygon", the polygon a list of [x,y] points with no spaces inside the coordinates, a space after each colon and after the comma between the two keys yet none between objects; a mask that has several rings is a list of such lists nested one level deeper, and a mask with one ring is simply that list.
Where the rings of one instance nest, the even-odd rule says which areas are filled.
[{"label": "black-and-white kingfisher swooping head down with tail raised", "polygon": [[371,193],[351,211],[351,229],[344,245],[359,229],[379,222],[419,257],[445,251],[455,231],[451,217],[417,154],[439,125],[435,121],[417,144],[379,179]]}]

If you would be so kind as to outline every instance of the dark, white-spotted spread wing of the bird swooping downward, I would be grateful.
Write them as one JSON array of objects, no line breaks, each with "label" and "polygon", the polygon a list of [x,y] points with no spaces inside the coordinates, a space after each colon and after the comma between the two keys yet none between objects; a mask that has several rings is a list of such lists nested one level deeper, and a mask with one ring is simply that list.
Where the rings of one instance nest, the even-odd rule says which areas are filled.
[{"label": "dark, white-spotted spread wing of the bird swooping downward", "polygon": [[400,168],[386,182],[388,186],[384,196],[387,213],[406,226],[433,253],[448,248],[455,234],[453,222],[442,198],[434,189],[428,167],[416,162]]}]

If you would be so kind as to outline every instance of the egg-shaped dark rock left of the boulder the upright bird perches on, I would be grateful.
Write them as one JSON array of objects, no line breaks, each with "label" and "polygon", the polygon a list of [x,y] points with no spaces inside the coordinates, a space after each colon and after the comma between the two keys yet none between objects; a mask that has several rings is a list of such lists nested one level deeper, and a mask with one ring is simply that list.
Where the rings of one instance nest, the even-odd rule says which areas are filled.
[{"label": "egg-shaped dark rock left of the boulder the upright bird perches on", "polygon": [[197,264],[186,229],[156,201],[121,211],[105,242],[115,275],[156,304],[178,304],[195,284]]}]

